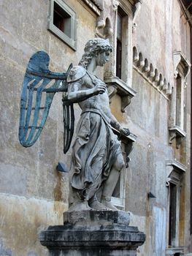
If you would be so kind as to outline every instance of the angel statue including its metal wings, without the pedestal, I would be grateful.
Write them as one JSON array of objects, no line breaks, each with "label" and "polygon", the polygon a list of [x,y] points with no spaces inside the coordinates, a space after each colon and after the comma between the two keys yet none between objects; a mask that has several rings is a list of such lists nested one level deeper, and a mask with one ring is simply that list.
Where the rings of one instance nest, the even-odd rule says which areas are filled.
[{"label": "angel statue including its metal wings, without the pedestal", "polygon": [[[21,95],[20,143],[23,146],[35,143],[45,125],[55,92],[62,91],[66,153],[74,129],[73,103],[78,102],[82,113],[72,146],[69,211],[117,211],[111,197],[125,164],[120,141],[112,127],[126,136],[129,130],[121,127],[112,115],[107,86],[94,75],[97,66],[103,67],[109,61],[112,46],[108,39],[95,38],[87,42],[84,51],[78,66],[70,66],[66,73],[51,72],[48,69],[49,56],[43,51],[31,57]],[[55,83],[49,86],[52,80]],[[36,100],[33,100],[34,91]],[[46,97],[41,107],[43,94]],[[36,102],[34,108],[31,102]]]}]

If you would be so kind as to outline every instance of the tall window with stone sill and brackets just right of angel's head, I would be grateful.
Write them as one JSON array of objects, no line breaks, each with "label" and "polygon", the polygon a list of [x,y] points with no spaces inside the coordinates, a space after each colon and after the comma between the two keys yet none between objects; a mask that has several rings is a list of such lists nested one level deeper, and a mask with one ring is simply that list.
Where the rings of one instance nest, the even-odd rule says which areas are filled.
[{"label": "tall window with stone sill and brackets just right of angel's head", "polygon": [[[105,34],[105,37],[110,39],[114,50],[110,61],[104,67],[104,82],[109,85],[109,88],[113,88],[114,93],[111,95],[120,102],[116,110],[121,112],[125,112],[125,108],[131,103],[131,98],[136,94],[136,91],[131,88],[133,75],[132,15],[132,4],[128,1],[126,4],[124,1],[119,1],[118,8],[115,9],[115,22],[110,21],[112,20],[110,16],[107,16],[108,22],[106,20],[109,33]],[[114,23],[113,27],[111,23]],[[110,34],[112,29],[114,33]]]}]

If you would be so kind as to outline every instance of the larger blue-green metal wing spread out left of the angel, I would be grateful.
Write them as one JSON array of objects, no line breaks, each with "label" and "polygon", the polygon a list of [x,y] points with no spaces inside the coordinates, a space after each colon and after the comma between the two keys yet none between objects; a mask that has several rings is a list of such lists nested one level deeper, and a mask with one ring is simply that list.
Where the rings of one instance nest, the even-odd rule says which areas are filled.
[{"label": "larger blue-green metal wing spread out left of the angel", "polygon": [[34,145],[47,119],[55,92],[67,91],[66,73],[51,72],[50,57],[39,51],[28,61],[20,99],[19,140],[24,147]]}]

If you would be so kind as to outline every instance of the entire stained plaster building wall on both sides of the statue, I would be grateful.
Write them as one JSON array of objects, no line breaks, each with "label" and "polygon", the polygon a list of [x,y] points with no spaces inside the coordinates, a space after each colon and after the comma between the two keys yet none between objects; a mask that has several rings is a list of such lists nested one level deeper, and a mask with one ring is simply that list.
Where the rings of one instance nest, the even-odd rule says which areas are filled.
[{"label": "entire stained plaster building wall on both sides of the statue", "polygon": [[[77,13],[76,51],[47,31],[49,1],[0,2],[0,255],[47,255],[47,249],[39,244],[38,234],[49,225],[61,225],[62,214],[68,208],[68,174],[56,171],[59,161],[65,162],[68,168],[70,165],[70,150],[63,154],[61,94],[53,99],[37,143],[23,148],[18,142],[20,92],[28,59],[37,50],[45,50],[50,55],[50,69],[66,72],[70,63],[75,65],[80,60],[85,42],[95,36],[97,16],[93,10],[85,1],[65,2]],[[125,2],[126,6],[128,1]],[[190,27],[185,17],[180,16],[177,0],[143,1],[137,15],[137,29],[127,41],[130,52],[133,46],[137,47],[171,86],[174,86],[173,52],[182,51],[189,60],[191,54]],[[129,18],[131,22],[132,16]],[[115,20],[111,23],[115,29]],[[129,29],[131,25],[128,23]],[[131,59],[127,62],[132,63]],[[99,75],[102,78],[103,69],[99,69]],[[125,113],[120,111],[120,97],[112,98],[114,115],[137,135],[126,170],[125,209],[131,211],[131,225],[146,233],[146,242],[137,252],[139,256],[166,255],[169,217],[166,161],[174,159],[187,167],[181,187],[179,245],[185,246],[186,253],[192,252],[190,75],[187,82],[184,125],[187,137],[179,149],[174,142],[169,144],[171,96],[152,86],[137,69],[132,69],[131,80],[137,94]],[[74,110],[77,120],[80,116],[77,105]],[[148,192],[155,198],[149,199]]]}]

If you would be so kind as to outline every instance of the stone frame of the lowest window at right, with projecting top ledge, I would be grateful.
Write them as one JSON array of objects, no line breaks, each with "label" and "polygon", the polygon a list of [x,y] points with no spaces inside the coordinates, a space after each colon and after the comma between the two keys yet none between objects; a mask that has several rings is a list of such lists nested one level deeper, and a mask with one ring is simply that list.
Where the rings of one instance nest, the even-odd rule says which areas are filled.
[{"label": "stone frame of the lowest window at right, with projecting top ledge", "polygon": [[[176,222],[175,222],[175,237],[172,238],[172,248],[166,249],[166,255],[174,255],[172,254],[177,249],[177,253],[181,253],[183,255],[183,247],[179,246],[179,219],[180,219],[180,189],[182,187],[183,175],[186,171],[187,167],[176,160],[167,160],[166,161],[166,187],[168,187],[168,202],[167,202],[167,223],[169,223],[169,205],[170,205],[170,184],[174,184],[177,188],[177,199],[176,199]],[[167,237],[169,234],[169,225],[167,225]],[[169,245],[169,241],[167,240],[167,246]]]}]

